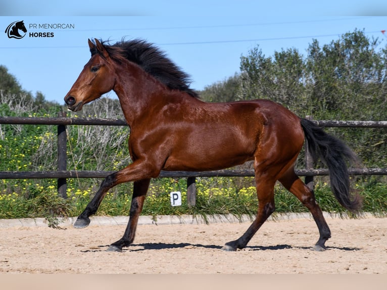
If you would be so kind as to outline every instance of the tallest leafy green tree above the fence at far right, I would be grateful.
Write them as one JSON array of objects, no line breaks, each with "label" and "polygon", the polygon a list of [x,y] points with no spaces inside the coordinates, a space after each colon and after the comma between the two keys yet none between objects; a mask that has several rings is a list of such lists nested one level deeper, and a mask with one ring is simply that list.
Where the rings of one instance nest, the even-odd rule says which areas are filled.
[{"label": "tallest leafy green tree above the fence at far right", "polygon": [[359,30],[323,47],[317,40],[310,44],[307,86],[314,104],[313,115],[334,119],[385,118],[381,116],[380,101],[385,101],[382,88],[387,70],[385,55],[376,50],[378,45],[377,39],[369,39]]}]

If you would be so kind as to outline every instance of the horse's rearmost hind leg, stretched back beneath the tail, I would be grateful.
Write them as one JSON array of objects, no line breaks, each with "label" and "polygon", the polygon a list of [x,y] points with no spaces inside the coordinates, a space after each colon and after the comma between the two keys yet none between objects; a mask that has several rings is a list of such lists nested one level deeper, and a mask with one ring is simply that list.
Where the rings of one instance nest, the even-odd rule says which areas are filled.
[{"label": "horse's rearmost hind leg, stretched back beneath the tail", "polygon": [[330,230],[325,221],[325,218],[322,214],[320,207],[316,203],[316,199],[314,196],[314,192],[310,189],[294,172],[294,168],[289,169],[280,179],[279,181],[282,185],[292,192],[301,203],[306,206],[311,212],[317,227],[320,233],[320,238],[318,239],[316,245],[314,246],[314,250],[316,251],[324,251],[325,242],[328,238],[330,238]]}]

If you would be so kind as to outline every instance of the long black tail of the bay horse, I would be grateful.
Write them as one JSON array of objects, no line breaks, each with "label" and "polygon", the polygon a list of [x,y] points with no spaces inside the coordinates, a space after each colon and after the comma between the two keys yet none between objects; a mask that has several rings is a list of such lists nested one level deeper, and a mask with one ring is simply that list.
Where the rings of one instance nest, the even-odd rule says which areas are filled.
[{"label": "long black tail of the bay horse", "polygon": [[308,148],[312,157],[319,157],[329,169],[330,187],[337,201],[346,209],[355,211],[361,208],[359,195],[350,194],[350,180],[346,161],[355,163],[356,155],[341,140],[324,132],[319,126],[301,119]]}]

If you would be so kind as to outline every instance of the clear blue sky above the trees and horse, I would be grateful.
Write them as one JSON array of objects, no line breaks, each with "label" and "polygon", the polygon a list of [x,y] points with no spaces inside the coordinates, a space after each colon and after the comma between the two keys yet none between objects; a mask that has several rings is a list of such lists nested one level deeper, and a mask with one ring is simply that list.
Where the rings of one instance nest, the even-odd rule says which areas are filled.
[{"label": "clear blue sky above the trees and horse", "polygon": [[[355,29],[378,37],[380,46],[387,41],[381,33],[387,30],[387,17],[374,16],[387,15],[387,5],[378,1],[367,2],[367,6],[344,1],[335,9],[329,3],[318,7],[310,1],[305,2],[307,6],[303,1],[280,5],[243,0],[148,0],[147,6],[141,6],[111,0],[109,3],[121,6],[111,5],[104,10],[96,1],[82,1],[76,9],[71,0],[66,5],[59,3],[55,9],[44,5],[52,2],[38,3],[40,8],[34,1],[22,0],[14,0],[12,6],[0,6],[0,65],[6,66],[24,89],[33,94],[41,91],[46,100],[60,104],[90,58],[87,38],[115,42],[126,36],[153,42],[191,75],[191,87],[199,90],[239,72],[240,56],[246,56],[257,45],[266,56],[291,47],[306,53],[313,39],[325,44]],[[35,16],[18,16],[26,14]],[[19,20],[25,23],[26,36],[8,38],[5,29]],[[74,28],[38,28],[39,24],[58,23]],[[29,36],[36,32],[54,32],[54,37]]]}]

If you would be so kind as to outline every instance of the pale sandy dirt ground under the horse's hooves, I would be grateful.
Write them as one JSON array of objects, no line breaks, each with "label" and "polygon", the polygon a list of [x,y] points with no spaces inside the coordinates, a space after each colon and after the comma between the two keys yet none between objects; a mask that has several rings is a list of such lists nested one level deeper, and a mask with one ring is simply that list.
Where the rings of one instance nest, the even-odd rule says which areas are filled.
[{"label": "pale sandy dirt ground under the horse's hooves", "polygon": [[250,222],[139,224],[134,244],[106,252],[125,225],[0,227],[0,273],[387,273],[387,218],[327,218],[325,252],[310,218],[267,221],[237,252],[221,251]]}]

